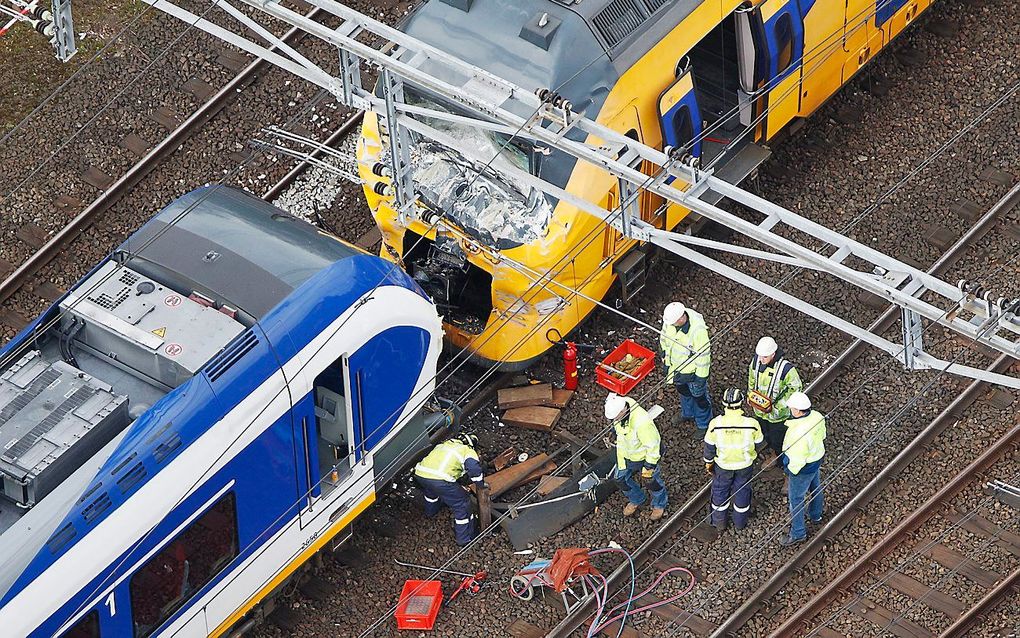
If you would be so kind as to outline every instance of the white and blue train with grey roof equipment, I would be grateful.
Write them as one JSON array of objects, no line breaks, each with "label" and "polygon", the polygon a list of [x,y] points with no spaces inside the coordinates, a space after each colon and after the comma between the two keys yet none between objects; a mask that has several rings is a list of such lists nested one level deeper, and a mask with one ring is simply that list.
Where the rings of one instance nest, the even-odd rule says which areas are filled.
[{"label": "white and blue train with grey roof equipment", "polygon": [[0,634],[250,626],[451,425],[442,338],[391,263],[174,201],[0,350]]}]

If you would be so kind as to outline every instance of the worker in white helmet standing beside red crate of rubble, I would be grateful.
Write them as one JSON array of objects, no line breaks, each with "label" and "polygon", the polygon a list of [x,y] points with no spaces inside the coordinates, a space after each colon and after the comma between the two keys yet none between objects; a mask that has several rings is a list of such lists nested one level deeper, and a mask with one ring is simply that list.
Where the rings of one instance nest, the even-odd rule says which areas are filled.
[{"label": "worker in white helmet standing beside red crate of rubble", "polygon": [[680,395],[680,411],[674,414],[673,425],[694,420],[698,429],[707,430],[712,420],[712,399],[708,393],[712,349],[705,317],[679,301],[667,304],[662,311],[659,347],[666,366],[666,383],[673,384]]}]

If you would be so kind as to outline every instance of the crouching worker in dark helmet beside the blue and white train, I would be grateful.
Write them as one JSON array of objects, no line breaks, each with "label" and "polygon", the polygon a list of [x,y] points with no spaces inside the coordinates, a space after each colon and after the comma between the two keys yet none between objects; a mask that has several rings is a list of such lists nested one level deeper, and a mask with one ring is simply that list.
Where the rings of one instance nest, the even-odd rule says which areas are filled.
[{"label": "crouching worker in dark helmet beside the blue and white train", "polygon": [[484,485],[481,462],[474,451],[477,444],[476,436],[462,434],[434,447],[414,468],[414,478],[425,497],[425,516],[430,519],[443,505],[450,507],[454,535],[461,547],[478,534],[467,488],[458,483],[466,475],[474,485]]}]

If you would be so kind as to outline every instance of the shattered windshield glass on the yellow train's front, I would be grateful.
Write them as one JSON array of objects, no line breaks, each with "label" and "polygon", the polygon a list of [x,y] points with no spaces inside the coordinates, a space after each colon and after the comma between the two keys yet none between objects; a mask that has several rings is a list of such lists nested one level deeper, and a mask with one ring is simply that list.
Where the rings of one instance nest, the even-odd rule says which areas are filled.
[{"label": "shattered windshield glass on the yellow train's front", "polygon": [[[406,99],[415,106],[452,112],[411,91]],[[434,140],[415,135],[411,164],[424,199],[496,248],[526,244],[545,234],[552,205],[543,193],[507,174],[511,167],[538,174],[542,155],[529,143],[493,131],[415,117],[455,139],[473,155],[491,159],[486,167],[483,162],[467,160]]]}]

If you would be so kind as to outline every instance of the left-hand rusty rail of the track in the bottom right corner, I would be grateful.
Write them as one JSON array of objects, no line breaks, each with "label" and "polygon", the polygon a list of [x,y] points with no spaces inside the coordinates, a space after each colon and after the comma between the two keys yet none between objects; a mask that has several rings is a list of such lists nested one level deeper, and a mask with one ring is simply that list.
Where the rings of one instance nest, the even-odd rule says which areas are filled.
[{"label": "left-hand rusty rail of the track in the bottom right corner", "polygon": [[[1009,358],[1004,356],[997,362]],[[972,387],[983,385],[985,385],[983,382],[977,381],[972,384]],[[944,420],[947,425],[950,422],[955,422],[957,419],[959,419],[959,414],[950,410],[945,411],[938,416],[938,420]],[[854,561],[854,565],[847,568],[839,576],[830,580],[811,600],[798,607],[793,616],[787,618],[778,629],[771,633],[771,636],[792,636],[800,630],[809,630],[808,623],[821,612],[835,597],[847,593],[851,585],[869,572],[869,567],[876,565],[878,560],[899,547],[918,528],[930,521],[938,512],[941,505],[959,494],[967,485],[971,484],[977,475],[980,475],[992,465],[1003,454],[1014,447],[1018,441],[1020,441],[1020,424],[1015,424],[1009,432],[1004,434],[994,444],[985,449],[980,456],[953,477],[949,483],[939,488],[937,492],[924,501],[913,513],[904,519],[891,532],[868,548],[868,551]]]}]

